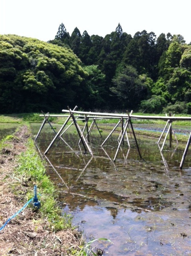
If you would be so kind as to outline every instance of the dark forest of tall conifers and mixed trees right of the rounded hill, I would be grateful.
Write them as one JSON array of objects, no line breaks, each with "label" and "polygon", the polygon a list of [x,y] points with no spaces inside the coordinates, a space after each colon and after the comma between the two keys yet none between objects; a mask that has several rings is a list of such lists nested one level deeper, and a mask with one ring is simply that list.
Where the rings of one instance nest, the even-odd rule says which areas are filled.
[{"label": "dark forest of tall conifers and mixed trees right of the rounded hill", "polygon": [[[154,32],[143,30],[132,37],[118,24],[105,38],[89,36],[87,31],[81,35],[78,28],[71,37],[65,28],[65,37],[60,37],[59,43],[74,51],[87,72],[91,70],[86,85],[97,77],[97,71],[92,74],[88,66],[96,65],[105,75],[105,81],[97,86],[94,94],[99,100],[94,100],[96,105],[87,100],[89,108],[129,108],[159,113],[166,107],[165,110],[172,112],[191,113],[191,45],[185,44],[183,36],[162,33],[157,38]],[[58,43],[58,38],[51,42]],[[135,73],[136,79],[131,79]],[[92,99],[91,93],[89,95]],[[186,107],[177,108],[179,102],[184,102]]]}]

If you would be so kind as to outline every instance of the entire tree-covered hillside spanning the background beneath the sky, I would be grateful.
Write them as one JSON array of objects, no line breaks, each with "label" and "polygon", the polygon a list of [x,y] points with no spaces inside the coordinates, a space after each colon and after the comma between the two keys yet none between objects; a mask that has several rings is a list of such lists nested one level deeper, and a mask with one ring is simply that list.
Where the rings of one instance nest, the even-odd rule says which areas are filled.
[{"label": "entire tree-covered hillside spanning the background beneath the sky", "polygon": [[78,28],[70,36],[61,24],[48,43],[0,36],[0,58],[2,113],[78,105],[191,114],[191,44],[181,35],[132,37],[118,24],[104,38]]}]

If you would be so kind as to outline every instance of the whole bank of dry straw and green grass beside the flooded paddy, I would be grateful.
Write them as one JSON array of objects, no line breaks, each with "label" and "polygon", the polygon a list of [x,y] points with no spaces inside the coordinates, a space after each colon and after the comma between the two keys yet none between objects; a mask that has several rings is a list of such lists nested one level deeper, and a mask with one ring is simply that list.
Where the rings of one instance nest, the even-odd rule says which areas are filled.
[{"label": "whole bank of dry straw and green grass beside the flooded paddy", "polygon": [[41,194],[41,207],[36,211],[30,205],[5,226],[0,232],[0,253],[80,256],[81,236],[72,228],[70,216],[63,216],[56,187],[30,137],[30,128],[22,125],[0,142],[0,227],[33,198],[34,184]]}]

